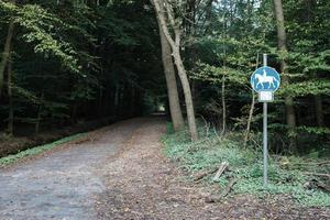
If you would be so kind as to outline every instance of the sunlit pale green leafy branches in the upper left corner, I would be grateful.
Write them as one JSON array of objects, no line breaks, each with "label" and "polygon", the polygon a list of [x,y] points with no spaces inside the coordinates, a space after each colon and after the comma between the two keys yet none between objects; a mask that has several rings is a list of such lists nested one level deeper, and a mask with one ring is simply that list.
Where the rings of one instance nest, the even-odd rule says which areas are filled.
[{"label": "sunlit pale green leafy branches in the upper left corner", "polygon": [[77,52],[58,35],[58,30],[72,28],[70,25],[37,4],[15,6],[1,1],[0,8],[10,12],[15,23],[24,28],[22,38],[34,45],[35,53],[53,55],[68,70],[80,72]]}]

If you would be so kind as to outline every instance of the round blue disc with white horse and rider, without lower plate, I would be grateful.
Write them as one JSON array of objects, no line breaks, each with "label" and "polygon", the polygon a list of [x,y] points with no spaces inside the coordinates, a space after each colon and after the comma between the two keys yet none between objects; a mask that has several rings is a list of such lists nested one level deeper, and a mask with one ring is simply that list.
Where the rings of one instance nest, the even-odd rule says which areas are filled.
[{"label": "round blue disc with white horse and rider, without lower plate", "polygon": [[256,92],[276,91],[280,85],[279,74],[268,66],[256,69],[251,76],[251,86]]}]

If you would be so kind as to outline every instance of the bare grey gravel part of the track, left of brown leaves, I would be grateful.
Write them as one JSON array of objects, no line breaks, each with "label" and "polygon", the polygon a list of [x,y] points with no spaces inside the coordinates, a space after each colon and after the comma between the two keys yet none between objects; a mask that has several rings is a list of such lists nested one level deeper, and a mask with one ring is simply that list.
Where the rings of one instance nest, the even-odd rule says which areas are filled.
[{"label": "bare grey gravel part of the track, left of brown leaves", "polygon": [[143,125],[134,119],[91,133],[47,156],[0,170],[0,219],[96,219],[95,196],[105,190],[98,168]]}]

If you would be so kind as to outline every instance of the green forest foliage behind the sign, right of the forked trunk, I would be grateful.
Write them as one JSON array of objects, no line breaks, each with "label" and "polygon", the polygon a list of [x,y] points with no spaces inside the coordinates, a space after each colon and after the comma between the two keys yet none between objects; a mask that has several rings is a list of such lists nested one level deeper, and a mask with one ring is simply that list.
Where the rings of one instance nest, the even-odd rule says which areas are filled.
[{"label": "green forest foliage behind the sign, right of the forked trunk", "polygon": [[[321,150],[329,146],[326,136],[330,112],[330,4],[324,0],[283,1],[283,9],[288,50],[285,52],[277,48],[276,20],[270,15],[274,14],[272,1],[222,0],[218,7],[206,10],[209,16],[201,16],[204,22],[195,26],[199,32],[187,37],[190,50],[186,53],[187,64],[198,97],[195,103],[205,118],[218,124],[223,111],[220,97],[223,97],[228,123],[233,123],[234,129],[246,128],[246,108],[252,102],[250,76],[263,65],[262,54],[268,54],[268,66],[278,72],[285,59],[288,82],[282,82],[268,109],[271,128],[277,127],[272,130],[277,136],[274,150],[289,153],[293,136],[297,138],[299,153],[308,152],[316,143]],[[284,78],[284,73],[279,74]],[[223,79],[224,94],[221,92]],[[285,125],[285,97],[294,98],[297,123],[294,130]],[[254,132],[262,123],[260,113],[256,109],[252,118]],[[323,123],[317,122],[317,118],[323,119]],[[327,128],[319,128],[320,124]]]}]

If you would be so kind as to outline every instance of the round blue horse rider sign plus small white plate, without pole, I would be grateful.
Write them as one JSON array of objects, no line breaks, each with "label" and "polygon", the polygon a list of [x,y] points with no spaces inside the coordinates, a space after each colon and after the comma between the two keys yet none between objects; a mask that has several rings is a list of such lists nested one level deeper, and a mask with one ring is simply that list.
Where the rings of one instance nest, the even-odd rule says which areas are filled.
[{"label": "round blue horse rider sign plus small white plate, without pole", "polygon": [[258,94],[260,102],[273,101],[279,85],[279,74],[268,66],[256,69],[251,76],[251,86]]}]

